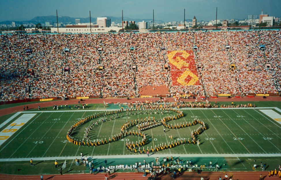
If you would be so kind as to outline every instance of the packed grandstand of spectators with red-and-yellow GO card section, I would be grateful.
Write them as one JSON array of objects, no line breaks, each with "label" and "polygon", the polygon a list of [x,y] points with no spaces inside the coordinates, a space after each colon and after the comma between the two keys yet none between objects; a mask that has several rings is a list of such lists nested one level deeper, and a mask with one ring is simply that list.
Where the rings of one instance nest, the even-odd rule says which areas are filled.
[{"label": "packed grandstand of spectators with red-and-yellow GO card section", "polygon": [[280,41],[280,30],[5,34],[1,101],[278,94]]}]

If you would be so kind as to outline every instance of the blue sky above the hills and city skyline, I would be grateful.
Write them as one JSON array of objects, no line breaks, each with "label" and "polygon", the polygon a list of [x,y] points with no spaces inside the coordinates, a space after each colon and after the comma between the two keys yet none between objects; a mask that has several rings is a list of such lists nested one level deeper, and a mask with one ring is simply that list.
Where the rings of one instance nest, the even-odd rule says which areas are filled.
[{"label": "blue sky above the hills and city skyline", "polygon": [[281,0],[0,0],[0,21],[30,20],[35,16],[92,17],[115,16],[163,21],[183,20],[196,16],[197,20],[245,19],[263,13],[281,16]]}]

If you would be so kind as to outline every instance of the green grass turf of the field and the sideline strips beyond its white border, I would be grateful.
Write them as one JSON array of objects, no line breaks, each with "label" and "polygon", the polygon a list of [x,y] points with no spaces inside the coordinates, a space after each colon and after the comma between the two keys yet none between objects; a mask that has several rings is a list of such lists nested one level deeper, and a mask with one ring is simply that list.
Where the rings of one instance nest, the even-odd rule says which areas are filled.
[{"label": "green grass turf of the field and the sideline strips beyond its white border", "polygon": [[[223,102],[227,104],[227,102]],[[230,102],[231,103],[231,102]],[[240,104],[241,102],[239,102]],[[248,102],[247,102],[248,103]],[[280,102],[254,102],[257,106],[280,106]],[[243,103],[242,103],[243,104]],[[106,109],[103,104],[91,104],[89,109]],[[107,108],[110,109],[119,108],[113,104]],[[30,111],[34,111],[30,110]],[[46,108],[46,110],[53,110],[52,107]],[[65,110],[62,109],[62,110]],[[36,110],[37,111],[37,110]],[[43,109],[45,111],[45,109]],[[76,146],[67,142],[66,133],[70,126],[77,122],[79,118],[86,117],[94,113],[100,113],[104,111],[83,111],[77,110],[75,112],[60,112],[61,110],[55,110],[49,113],[42,113],[38,111],[29,122],[16,132],[8,141],[1,145],[1,158],[34,158],[34,157],[65,157],[65,156],[79,156],[80,152],[87,154],[88,157],[95,155],[129,155],[134,154],[125,148],[125,142],[136,142],[140,137],[125,137],[117,142],[106,144],[97,147],[87,146]],[[200,140],[200,146],[185,144],[176,146],[172,149],[162,150],[157,153],[159,157],[166,157],[168,154],[183,154],[183,155],[198,155],[198,163],[208,163],[209,159],[216,161],[218,157],[206,158],[208,160],[200,158],[200,154],[268,154],[268,153],[281,153],[281,141],[280,141],[280,124],[273,123],[273,120],[258,111],[258,109],[192,109],[182,110],[185,116],[179,120],[175,120],[173,123],[189,122],[198,117],[203,120],[208,129],[198,136]],[[27,111],[28,112],[28,111]],[[278,111],[276,111],[278,112]],[[167,116],[170,112],[162,114],[152,114],[156,120]],[[125,113],[124,113],[125,114]],[[133,113],[134,114],[134,113]],[[264,116],[262,116],[263,114]],[[121,115],[121,114],[120,114]],[[114,135],[120,132],[121,125],[128,120],[134,120],[137,118],[144,118],[147,115],[130,115],[125,118],[117,118],[117,120],[100,123],[97,128],[92,132],[91,139],[102,139],[104,137]],[[7,115],[5,118],[10,117]],[[3,118],[3,119],[5,119]],[[16,117],[17,118],[17,117]],[[15,118],[15,119],[16,119]],[[15,120],[14,119],[14,120]],[[108,116],[109,119],[109,116]],[[88,127],[91,122],[83,124],[80,131],[76,134],[77,138],[83,136],[83,129]],[[181,128],[181,129],[166,129],[164,134],[162,126],[158,126],[149,130],[144,131],[147,135],[148,144],[145,145],[149,148],[151,146],[170,142],[169,136],[173,136],[173,140],[181,138],[191,137],[191,131],[196,129],[199,125]],[[132,130],[136,127],[133,127]],[[145,157],[146,155],[144,155]],[[145,157],[147,158],[147,156]],[[122,164],[129,164],[136,160],[125,158],[122,159]],[[141,158],[142,159],[142,158]],[[193,159],[189,157],[183,157],[184,161],[187,159]],[[194,159],[196,159],[194,157]],[[223,162],[227,162],[225,169],[229,170],[252,170],[253,161],[249,160],[252,158],[239,157],[226,157],[219,160],[220,165]],[[256,157],[258,159],[257,165],[260,161],[268,161],[269,169],[278,168],[277,165],[281,163],[280,158],[269,158],[269,157]],[[152,159],[153,160],[153,159]],[[99,163],[100,159],[98,160]],[[108,161],[114,161],[116,159],[110,159]],[[138,161],[138,160],[137,160]],[[143,160],[139,160],[143,162]],[[62,161],[63,162],[63,161]],[[75,167],[75,162],[71,163],[69,160],[69,166],[74,169],[72,173],[87,170],[86,167]],[[45,173],[57,173],[56,169],[52,168],[54,161],[46,161],[38,164],[42,168],[29,167],[29,162],[18,161],[18,162],[1,162],[1,173],[11,174],[40,174]],[[61,162],[60,162],[61,163]],[[98,162],[97,162],[98,163]],[[121,163],[121,160],[120,160]],[[11,170],[11,164],[15,166]],[[118,162],[119,164],[119,162]],[[115,164],[116,165],[116,164]],[[199,164],[198,164],[199,165]],[[275,168],[274,168],[275,166]],[[23,167],[23,168],[20,168]],[[68,166],[67,166],[68,167]],[[70,167],[70,168],[71,168]],[[26,169],[21,171],[18,169]],[[34,169],[37,169],[34,171]],[[71,168],[72,169],[72,168]],[[68,170],[68,168],[66,168]],[[69,169],[70,170],[70,169]]]}]

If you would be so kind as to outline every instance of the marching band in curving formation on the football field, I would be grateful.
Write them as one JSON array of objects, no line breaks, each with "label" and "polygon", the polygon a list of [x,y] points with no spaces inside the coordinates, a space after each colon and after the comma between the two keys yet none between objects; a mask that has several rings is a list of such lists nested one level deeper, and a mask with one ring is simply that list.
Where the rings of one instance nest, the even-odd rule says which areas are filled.
[{"label": "marching band in curving formation on the football field", "polygon": [[[98,113],[98,114],[94,114],[94,115],[91,115],[91,116],[88,116],[88,117],[85,117],[85,118],[82,118],[80,119],[78,122],[76,122],[74,125],[71,126],[70,130],[68,131],[67,133],[67,139],[69,142],[75,144],[75,145],[79,145],[79,146],[99,146],[99,145],[103,145],[103,144],[107,144],[107,143],[110,143],[110,142],[115,142],[119,139],[122,139],[123,137],[126,137],[126,136],[138,136],[138,137],[142,137],[141,140],[139,141],[136,141],[136,143],[134,142],[126,142],[126,147],[128,150],[130,150],[131,152],[134,152],[134,153],[139,153],[139,154],[142,154],[142,153],[146,153],[147,151],[148,152],[154,152],[154,151],[160,151],[160,150],[164,150],[164,149],[168,149],[168,148],[173,148],[173,147],[176,147],[176,146],[179,146],[179,145],[182,145],[182,144],[197,144],[199,145],[199,141],[197,140],[196,141],[196,135],[200,134],[201,132],[203,132],[204,130],[206,130],[206,126],[205,126],[205,123],[197,118],[195,118],[194,120],[192,120],[192,122],[188,123],[180,123],[177,125],[174,123],[174,125],[172,124],[169,124],[171,123],[173,120],[177,120],[181,117],[183,117],[183,112],[180,111],[180,110],[177,110],[177,109],[172,109],[171,107],[168,108],[165,106],[163,107],[162,104],[156,104],[156,105],[151,105],[151,104],[147,104],[147,105],[136,105],[136,108],[134,109],[134,107],[132,105],[128,105],[129,106],[129,109],[126,109],[125,112],[126,112],[126,116],[128,115],[128,112],[130,112],[130,114],[132,114],[132,111],[141,111],[141,114],[152,114],[153,113],[153,110],[155,111],[154,113],[157,114],[157,113],[162,113],[164,114],[164,111],[173,111],[175,112],[177,115],[168,115],[168,116],[165,116],[162,118],[162,120],[155,120],[154,117],[152,117],[152,120],[151,120],[151,117],[145,117],[144,119],[141,118],[141,120],[137,119],[137,120],[131,120],[131,121],[128,121],[126,122],[125,124],[123,124],[121,126],[121,132],[116,134],[116,135],[112,135],[112,137],[108,137],[108,140],[106,138],[101,139],[101,141],[95,141],[95,140],[91,140],[90,139],[90,136],[88,135],[89,134],[89,131],[91,131],[95,125],[97,125],[99,122],[106,122],[106,121],[111,121],[112,118],[116,119],[118,117],[118,113],[122,113],[121,114],[121,117],[123,117],[123,112],[124,112],[124,109],[121,108],[119,110],[115,110],[115,111],[106,111],[106,112],[103,112],[103,113]],[[162,112],[160,112],[160,110],[162,110]],[[150,112],[149,112],[150,111]],[[136,114],[136,113],[135,113]],[[107,116],[107,115],[110,115],[110,118],[109,120],[107,119],[107,117],[104,117],[104,116]],[[112,116],[111,116],[112,115]],[[84,137],[82,140],[78,140],[78,139],[74,139],[74,137],[72,136],[72,133],[74,132],[74,129],[76,127],[78,127],[79,125],[81,124],[85,124],[95,118],[98,118],[100,117],[99,120],[97,120],[96,122],[93,122],[88,128],[85,128],[85,133],[84,133]],[[196,124],[200,124],[201,126],[198,127],[196,130],[192,131],[191,133],[191,141],[190,139],[188,138],[188,141],[186,142],[186,139],[180,139],[177,140],[174,140],[170,142],[168,142],[168,144],[158,144],[157,146],[154,145],[151,146],[151,148],[149,149],[149,147],[147,146],[147,150],[145,150],[145,147],[143,147],[141,149],[141,146],[145,146],[146,144],[146,136],[145,134],[142,132],[142,131],[145,131],[145,130],[148,130],[150,128],[154,128],[156,126],[163,126],[164,128],[168,128],[168,129],[179,129],[179,128],[185,128],[185,127],[189,127],[189,126],[194,126]],[[137,131],[133,130],[133,132],[131,130],[129,130],[129,132],[127,131],[127,129],[130,127],[130,126],[136,126],[137,127]],[[165,132],[165,131],[164,131]],[[170,136],[169,136],[170,137]],[[171,136],[171,140],[172,140],[172,136]],[[138,150],[137,150],[138,149]]]}]

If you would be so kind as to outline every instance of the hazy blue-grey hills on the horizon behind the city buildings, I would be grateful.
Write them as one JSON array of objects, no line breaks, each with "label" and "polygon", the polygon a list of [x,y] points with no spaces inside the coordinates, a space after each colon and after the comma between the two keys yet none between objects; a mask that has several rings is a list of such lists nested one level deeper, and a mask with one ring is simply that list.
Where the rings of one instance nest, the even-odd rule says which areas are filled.
[{"label": "hazy blue-grey hills on the horizon behind the city buildings", "polygon": [[[111,22],[115,22],[115,23],[121,23],[122,21],[122,17],[113,17],[113,16],[103,16],[103,17],[107,17],[109,19],[111,19]],[[73,17],[69,17],[69,16],[58,16],[58,21],[59,23],[63,23],[63,24],[75,24],[75,19],[80,19],[80,23],[90,23],[90,17],[87,18],[73,18]],[[91,22],[92,23],[96,23],[96,17],[91,17]],[[128,18],[128,17],[123,17],[123,21],[136,21],[136,22],[141,22],[141,21],[145,21],[145,22],[149,22],[149,21],[153,21],[153,19],[134,19],[134,18]],[[188,20],[186,20],[188,21]],[[41,24],[45,24],[45,22],[50,22],[50,23],[57,23],[57,16],[36,16],[33,19],[29,20],[29,21],[14,21],[16,24],[37,24],[37,23],[41,23]],[[157,23],[163,23],[162,20],[154,20],[154,22]],[[0,24],[11,24],[12,21],[2,21],[0,22]]]}]

